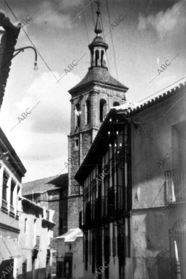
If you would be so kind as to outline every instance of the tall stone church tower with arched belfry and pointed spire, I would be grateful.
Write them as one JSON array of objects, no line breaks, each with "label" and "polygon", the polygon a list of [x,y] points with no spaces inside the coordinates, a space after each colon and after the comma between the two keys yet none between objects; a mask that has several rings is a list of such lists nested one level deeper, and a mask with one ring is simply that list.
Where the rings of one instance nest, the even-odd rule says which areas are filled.
[{"label": "tall stone church tower with arched belfry and pointed spire", "polygon": [[71,127],[68,135],[68,228],[79,227],[79,211],[83,210],[83,188],[74,179],[74,175],[110,108],[124,104],[125,92],[128,90],[108,72],[108,45],[100,35],[100,3],[96,3],[96,37],[88,45],[91,66],[82,81],[69,90],[72,98]]}]

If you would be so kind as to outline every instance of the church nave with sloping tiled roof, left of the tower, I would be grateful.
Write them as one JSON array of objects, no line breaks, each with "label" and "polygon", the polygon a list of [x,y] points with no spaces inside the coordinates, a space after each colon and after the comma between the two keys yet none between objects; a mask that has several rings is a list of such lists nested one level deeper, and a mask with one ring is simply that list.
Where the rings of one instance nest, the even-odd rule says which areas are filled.
[{"label": "church nave with sloping tiled roof, left of the tower", "polygon": [[57,255],[56,237],[67,231],[67,195],[68,174],[52,176],[22,184],[22,195],[35,200],[45,207],[47,212],[54,210],[52,274],[56,274]]}]

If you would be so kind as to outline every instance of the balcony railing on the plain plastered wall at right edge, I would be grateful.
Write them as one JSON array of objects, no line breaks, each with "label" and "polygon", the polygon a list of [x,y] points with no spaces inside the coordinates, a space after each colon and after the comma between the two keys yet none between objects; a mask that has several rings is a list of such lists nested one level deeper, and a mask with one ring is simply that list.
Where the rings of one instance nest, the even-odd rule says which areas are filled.
[{"label": "balcony railing on the plain plastered wall at right edge", "polygon": [[[165,171],[166,202],[186,201],[186,174],[180,170]],[[183,191],[182,191],[183,190]]]}]

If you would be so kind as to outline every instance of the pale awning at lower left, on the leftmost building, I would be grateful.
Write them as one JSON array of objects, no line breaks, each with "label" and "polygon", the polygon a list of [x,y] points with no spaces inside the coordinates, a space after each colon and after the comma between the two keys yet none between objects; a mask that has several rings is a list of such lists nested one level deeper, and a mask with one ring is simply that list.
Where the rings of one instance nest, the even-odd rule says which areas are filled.
[{"label": "pale awning at lower left, on the leftmost building", "polygon": [[0,238],[0,262],[24,256],[18,242],[12,238]]}]

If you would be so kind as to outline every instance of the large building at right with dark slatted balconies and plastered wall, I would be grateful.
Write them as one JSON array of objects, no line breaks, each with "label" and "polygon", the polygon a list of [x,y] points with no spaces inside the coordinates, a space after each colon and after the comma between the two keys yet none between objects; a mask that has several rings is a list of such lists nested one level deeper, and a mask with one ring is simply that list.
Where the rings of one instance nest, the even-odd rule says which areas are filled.
[{"label": "large building at right with dark slatted balconies and plastered wall", "polygon": [[75,175],[85,278],[186,277],[185,92],[116,107],[101,126]]}]

